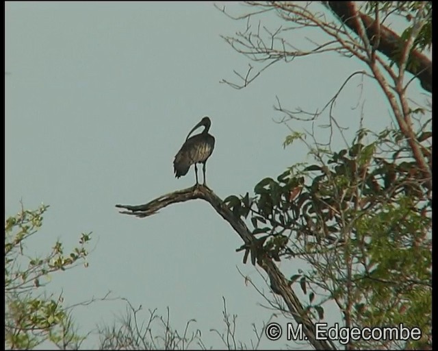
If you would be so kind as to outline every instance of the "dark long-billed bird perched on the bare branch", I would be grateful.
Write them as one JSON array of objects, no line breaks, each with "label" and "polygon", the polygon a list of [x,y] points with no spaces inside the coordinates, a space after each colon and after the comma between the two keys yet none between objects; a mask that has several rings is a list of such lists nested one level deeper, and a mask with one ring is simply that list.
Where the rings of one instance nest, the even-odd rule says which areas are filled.
[{"label": "dark long-billed bird perched on the bare branch", "polygon": [[[196,129],[204,127],[204,130],[194,136],[190,136]],[[185,138],[185,143],[179,149],[179,152],[175,156],[173,161],[173,168],[175,171],[175,177],[179,178],[186,175],[190,169],[191,165],[194,165],[194,173],[196,175],[196,185],[198,185],[198,167],[197,163],[203,163],[203,174],[204,174],[204,185],[205,182],[205,163],[211,156],[214,149],[214,136],[209,134],[209,129],[211,126],[211,121],[209,117],[205,116],[201,121],[190,130],[187,138]]]}]

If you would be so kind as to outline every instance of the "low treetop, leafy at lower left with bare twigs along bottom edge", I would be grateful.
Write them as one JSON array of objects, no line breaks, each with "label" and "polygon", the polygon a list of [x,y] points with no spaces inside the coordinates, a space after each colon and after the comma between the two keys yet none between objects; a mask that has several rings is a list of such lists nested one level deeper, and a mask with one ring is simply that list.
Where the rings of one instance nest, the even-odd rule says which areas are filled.
[{"label": "low treetop, leafy at lower left with bare twigs along bottom edge", "polygon": [[[5,348],[30,350],[37,346],[55,346],[60,350],[78,350],[92,331],[86,335],[77,332],[73,311],[77,306],[90,306],[97,301],[120,300],[126,303],[125,315],[112,324],[98,326],[96,334],[100,341],[98,350],[187,350],[197,345],[206,349],[201,330],[192,328],[196,321],[190,319],[183,332],[172,328],[170,311],[166,316],[157,310],[149,310],[146,324],[140,321],[142,306],[134,308],[125,298],[91,298],[86,302],[66,306],[62,295],[48,293],[50,277],[82,264],[88,267],[86,250],[91,237],[81,234],[79,246],[65,255],[60,241],[56,241],[51,252],[44,256],[29,256],[27,244],[42,227],[43,215],[49,206],[36,210],[21,209],[20,213],[5,220]],[[247,349],[235,339],[236,315],[227,313],[224,300],[224,332],[217,333],[227,348]],[[157,331],[164,328],[164,332]],[[258,346],[261,332],[253,326],[256,339],[252,348]]]}]

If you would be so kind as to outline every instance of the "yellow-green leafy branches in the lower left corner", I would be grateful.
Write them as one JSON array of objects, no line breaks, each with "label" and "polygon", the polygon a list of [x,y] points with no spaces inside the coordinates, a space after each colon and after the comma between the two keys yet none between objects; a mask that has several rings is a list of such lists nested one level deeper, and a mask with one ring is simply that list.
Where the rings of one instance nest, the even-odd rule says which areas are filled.
[{"label": "yellow-green leafy branches in the lower left corner", "polygon": [[60,241],[44,257],[29,256],[26,243],[42,226],[49,206],[21,210],[5,219],[5,346],[11,349],[35,348],[49,340],[57,346],[79,343],[72,329],[63,298],[46,295],[44,285],[50,275],[83,262],[90,234],[81,234],[79,246],[65,255]]}]

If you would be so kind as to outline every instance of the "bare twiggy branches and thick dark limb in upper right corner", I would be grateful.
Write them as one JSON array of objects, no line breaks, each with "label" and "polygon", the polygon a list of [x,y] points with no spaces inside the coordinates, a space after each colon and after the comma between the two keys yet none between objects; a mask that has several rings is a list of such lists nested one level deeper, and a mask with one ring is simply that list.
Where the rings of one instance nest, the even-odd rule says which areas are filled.
[{"label": "bare twiggy branches and thick dark limb in upper right corner", "polygon": [[[318,4],[313,2],[305,5],[287,1],[268,1],[266,3],[248,1],[247,3],[257,10],[232,18],[248,20],[256,14],[274,11],[289,27],[280,27],[276,31],[269,31],[265,28],[266,33],[263,35],[260,26],[257,27],[257,32],[253,32],[248,24],[246,30],[237,32],[235,37],[224,36],[233,49],[243,53],[251,60],[268,62],[255,75],[251,75],[253,66],[250,66],[246,75],[239,75],[243,80],[241,84],[224,82],[229,83],[234,88],[243,88],[253,82],[262,71],[272,64],[280,60],[290,61],[302,56],[335,52],[346,58],[357,58],[368,66],[370,72],[352,73],[342,88],[351,77],[357,74],[376,80],[391,105],[398,128],[406,137],[417,166],[422,170],[424,178],[431,188],[430,165],[424,156],[424,148],[421,147],[420,143],[417,143],[412,122],[413,116],[417,113],[423,113],[424,109],[410,108],[407,88],[415,78],[418,78],[423,88],[428,92],[431,91],[432,61],[424,56],[422,51],[430,47],[432,43],[432,3],[430,1],[403,3],[387,1],[381,5],[378,1],[370,1],[365,6],[368,14],[364,14],[357,8],[355,1],[322,2],[320,6],[325,5],[335,14],[333,21],[326,19],[325,13],[318,12]],[[224,8],[222,8],[222,12],[226,13]],[[373,14],[374,18],[370,14]],[[402,16],[408,22],[400,36],[385,25],[391,19],[392,14]],[[300,50],[281,36],[290,30],[299,31],[309,27],[318,27],[322,30],[328,36],[326,43],[312,42],[314,45],[312,49]],[[350,29],[353,30],[353,33]],[[357,35],[354,36],[354,34]],[[394,68],[394,64],[396,64],[396,68]],[[413,77],[409,80],[407,80],[407,72],[413,73]],[[279,106],[279,110],[285,112],[292,119],[294,118],[290,111],[283,110],[281,106]],[[311,113],[312,119],[320,114],[321,112]],[[424,125],[421,126],[421,128],[424,127]]]}]

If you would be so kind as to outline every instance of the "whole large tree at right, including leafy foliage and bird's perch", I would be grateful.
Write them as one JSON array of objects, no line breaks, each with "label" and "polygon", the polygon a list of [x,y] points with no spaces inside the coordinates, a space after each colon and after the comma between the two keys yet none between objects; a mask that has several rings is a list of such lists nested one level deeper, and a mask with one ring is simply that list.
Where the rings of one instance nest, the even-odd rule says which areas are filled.
[{"label": "whole large tree at right, including leafy foliage and bird's perch", "polygon": [[[344,137],[342,149],[333,149],[330,141],[318,142],[313,132],[291,130],[285,146],[305,143],[314,162],[292,165],[275,179],[261,180],[253,194],[222,201],[206,186],[194,186],[144,205],[117,207],[147,217],[169,204],[205,199],[242,238],[237,251],[244,252],[244,263],[250,257],[266,272],[272,305],[302,324],[316,349],[431,348],[431,117],[430,108],[413,105],[408,90],[415,80],[431,90],[431,60],[424,54],[431,45],[431,3],[369,2],[363,8],[353,1],[247,4],[253,12],[232,16],[244,21],[244,31],[224,39],[262,66],[257,73],[253,66],[238,73],[242,81],[237,84],[224,82],[244,88],[281,60],[337,53],[339,60],[359,60],[364,70],[351,73],[317,112],[288,110],[277,101],[281,122],[313,123],[327,112],[331,135],[337,129],[344,137],[333,106],[352,77],[360,75],[377,83],[396,125],[381,131],[359,128],[352,140]],[[279,16],[284,26],[272,30],[256,25],[253,30],[254,17],[267,12]],[[400,34],[388,24],[396,16],[404,19]],[[324,32],[326,42],[311,40],[311,49],[296,48],[288,40],[290,31],[309,27]],[[276,265],[294,260],[305,261],[309,269],[281,271]],[[307,295],[305,300],[298,298],[298,290]],[[339,322],[349,330],[420,328],[421,335],[319,339],[315,324],[324,320],[329,304],[337,306]]]}]

